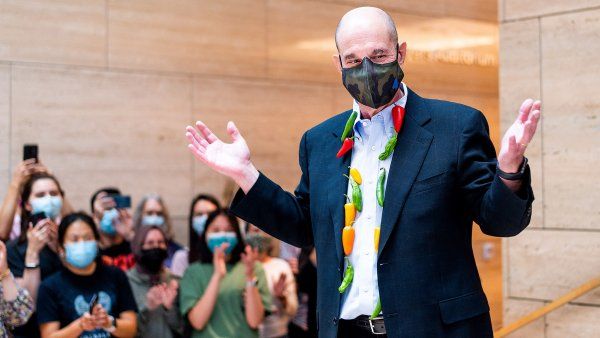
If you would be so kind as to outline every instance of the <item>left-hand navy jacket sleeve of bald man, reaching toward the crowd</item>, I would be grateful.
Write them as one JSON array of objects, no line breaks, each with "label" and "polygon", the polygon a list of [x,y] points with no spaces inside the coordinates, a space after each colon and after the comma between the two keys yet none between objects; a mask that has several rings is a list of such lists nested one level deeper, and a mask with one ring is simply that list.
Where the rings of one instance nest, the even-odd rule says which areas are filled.
[{"label": "left-hand navy jacket sleeve of bald man, reaching toward the crowd", "polygon": [[241,189],[237,192],[231,211],[284,242],[306,247],[313,245],[306,133],[300,141],[299,153],[302,176],[293,194],[261,173],[248,194]]}]

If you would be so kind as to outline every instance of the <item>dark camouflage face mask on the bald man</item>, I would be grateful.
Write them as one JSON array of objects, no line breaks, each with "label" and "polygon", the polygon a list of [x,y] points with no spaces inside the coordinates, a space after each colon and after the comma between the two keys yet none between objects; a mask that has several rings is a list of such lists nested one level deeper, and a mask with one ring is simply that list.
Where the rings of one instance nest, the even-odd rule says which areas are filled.
[{"label": "dark camouflage face mask on the bald man", "polygon": [[396,60],[392,62],[377,64],[365,56],[356,67],[342,67],[342,82],[346,90],[356,101],[371,108],[389,103],[396,95],[403,78],[404,72],[398,64],[398,46]]}]

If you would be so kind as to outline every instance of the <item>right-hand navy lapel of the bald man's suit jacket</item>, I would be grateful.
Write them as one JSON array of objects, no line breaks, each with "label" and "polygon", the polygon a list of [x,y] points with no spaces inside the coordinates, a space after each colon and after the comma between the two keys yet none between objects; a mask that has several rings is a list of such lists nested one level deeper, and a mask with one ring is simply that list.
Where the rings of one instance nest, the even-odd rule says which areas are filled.
[{"label": "right-hand navy lapel of the bald man's suit jacket", "polygon": [[410,89],[407,99],[406,118],[394,148],[385,189],[378,255],[385,248],[396,226],[404,202],[433,140],[433,135],[422,127],[430,120],[423,99]]}]

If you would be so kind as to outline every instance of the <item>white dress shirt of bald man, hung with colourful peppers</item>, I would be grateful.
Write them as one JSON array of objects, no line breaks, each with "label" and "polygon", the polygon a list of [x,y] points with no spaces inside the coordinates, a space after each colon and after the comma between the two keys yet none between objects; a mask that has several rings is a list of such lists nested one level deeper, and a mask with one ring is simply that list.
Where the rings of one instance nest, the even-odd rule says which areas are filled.
[{"label": "white dress shirt of bald man, hung with colourful peppers", "polygon": [[[398,101],[377,113],[370,120],[362,119],[360,108],[354,101],[354,110],[359,114],[354,123],[355,140],[351,166],[358,169],[362,176],[360,188],[363,209],[362,212],[357,211],[354,222],[354,248],[348,257],[354,267],[354,279],[342,298],[340,314],[342,319],[354,319],[360,315],[370,315],[379,298],[374,231],[381,224],[383,208],[377,203],[377,178],[379,169],[385,168],[385,183],[387,184],[387,176],[389,176],[392,162],[392,155],[384,161],[380,161],[379,154],[384,151],[388,140],[396,133],[392,120],[392,108],[394,106],[406,106],[407,91],[404,83],[402,83],[402,91],[404,95]],[[352,196],[350,184],[348,184],[347,195]]]}]

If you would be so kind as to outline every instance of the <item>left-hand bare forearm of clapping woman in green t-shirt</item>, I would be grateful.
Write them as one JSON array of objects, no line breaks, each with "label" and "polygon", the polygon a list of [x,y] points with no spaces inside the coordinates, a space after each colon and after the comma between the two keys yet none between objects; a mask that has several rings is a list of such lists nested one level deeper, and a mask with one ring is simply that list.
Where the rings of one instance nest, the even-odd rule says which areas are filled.
[{"label": "left-hand bare forearm of clapping woman in green t-shirt", "polygon": [[215,308],[215,304],[217,304],[217,297],[219,295],[219,285],[221,284],[221,280],[225,277],[227,273],[227,268],[225,266],[225,248],[227,243],[221,245],[221,247],[216,248],[213,254],[213,265],[214,271],[213,275],[210,278],[210,282],[204,290],[202,297],[200,300],[196,302],[196,305],[192,307],[192,309],[188,312],[188,320],[192,327],[198,331],[204,329],[208,321],[210,320],[210,316]]}]

